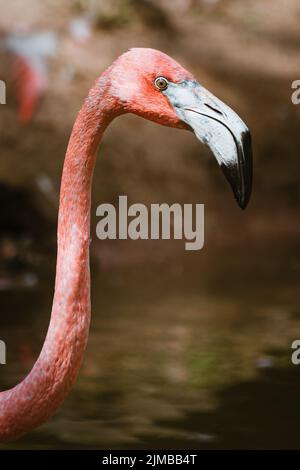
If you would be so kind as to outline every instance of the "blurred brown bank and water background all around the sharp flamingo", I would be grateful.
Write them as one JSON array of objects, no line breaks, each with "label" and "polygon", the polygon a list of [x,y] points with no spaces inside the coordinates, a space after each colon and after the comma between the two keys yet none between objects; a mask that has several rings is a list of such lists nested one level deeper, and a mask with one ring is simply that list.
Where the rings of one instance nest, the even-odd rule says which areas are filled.
[{"label": "blurred brown bank and water background all around the sharp flamingo", "polygon": [[[297,0],[0,0],[0,387],[47,331],[60,176],[89,87],[130,47],[160,49],[245,120],[242,212],[188,132],[135,116],[105,134],[94,177],[92,325],[72,393],[10,449],[300,448],[300,78]],[[205,204],[205,247],[96,238],[96,207]]]}]

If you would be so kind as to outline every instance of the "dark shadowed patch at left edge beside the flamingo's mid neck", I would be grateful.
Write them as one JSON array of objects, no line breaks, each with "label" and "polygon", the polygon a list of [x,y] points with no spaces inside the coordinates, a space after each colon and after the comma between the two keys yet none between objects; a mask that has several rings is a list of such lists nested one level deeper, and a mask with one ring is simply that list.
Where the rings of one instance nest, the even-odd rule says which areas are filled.
[{"label": "dark shadowed patch at left edge beside the flamingo's mid neck", "polygon": [[53,224],[22,187],[0,183],[0,207],[0,290],[34,287],[54,254]]}]

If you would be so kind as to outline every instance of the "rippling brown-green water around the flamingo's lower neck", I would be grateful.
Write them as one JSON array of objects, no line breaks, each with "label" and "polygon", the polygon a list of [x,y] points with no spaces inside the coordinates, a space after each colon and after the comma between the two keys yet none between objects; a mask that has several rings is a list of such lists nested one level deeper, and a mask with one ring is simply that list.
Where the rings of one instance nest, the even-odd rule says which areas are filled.
[{"label": "rippling brown-green water around the flamingo's lower neck", "polygon": [[[93,318],[79,379],[54,418],[2,448],[300,448],[300,253],[207,250],[93,269]],[[30,369],[46,333],[52,279],[3,292],[8,363]]]}]

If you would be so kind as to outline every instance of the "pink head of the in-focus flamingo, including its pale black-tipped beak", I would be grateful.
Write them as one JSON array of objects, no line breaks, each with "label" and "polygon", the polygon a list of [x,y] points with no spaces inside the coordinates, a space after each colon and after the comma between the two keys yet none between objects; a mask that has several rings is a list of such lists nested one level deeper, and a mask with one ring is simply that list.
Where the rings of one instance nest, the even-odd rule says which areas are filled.
[{"label": "pink head of the in-focus flamingo, including its pale black-tipped beak", "polygon": [[135,48],[110,69],[110,92],[122,112],[192,130],[221,166],[239,206],[251,195],[252,149],[246,124],[166,54]]}]

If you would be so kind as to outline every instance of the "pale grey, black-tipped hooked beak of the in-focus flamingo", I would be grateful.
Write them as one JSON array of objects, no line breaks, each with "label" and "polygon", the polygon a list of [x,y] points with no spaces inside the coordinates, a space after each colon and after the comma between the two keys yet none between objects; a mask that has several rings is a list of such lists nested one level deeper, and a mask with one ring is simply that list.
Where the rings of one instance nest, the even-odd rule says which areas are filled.
[{"label": "pale grey, black-tipped hooked beak of the in-focus flamingo", "polygon": [[251,135],[246,124],[196,81],[169,82],[163,93],[179,118],[211,149],[238,205],[245,209],[252,189]]}]

